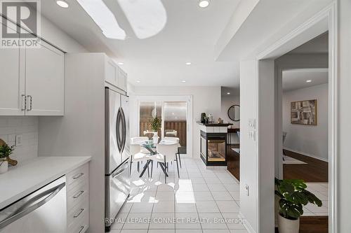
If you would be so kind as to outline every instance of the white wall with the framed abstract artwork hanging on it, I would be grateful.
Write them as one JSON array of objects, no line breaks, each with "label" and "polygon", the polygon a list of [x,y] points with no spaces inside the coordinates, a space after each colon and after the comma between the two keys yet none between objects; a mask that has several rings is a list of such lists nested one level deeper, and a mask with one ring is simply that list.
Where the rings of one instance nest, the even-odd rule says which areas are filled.
[{"label": "white wall with the framed abstract artwork hanging on it", "polygon": [[[291,124],[292,101],[317,99],[317,125]],[[328,161],[328,83],[283,93],[284,148]]]}]

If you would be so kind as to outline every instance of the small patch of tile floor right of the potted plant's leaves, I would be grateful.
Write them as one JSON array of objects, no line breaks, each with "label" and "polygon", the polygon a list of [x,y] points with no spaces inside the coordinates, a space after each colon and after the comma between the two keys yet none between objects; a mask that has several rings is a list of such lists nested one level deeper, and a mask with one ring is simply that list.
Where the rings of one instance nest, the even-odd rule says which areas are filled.
[{"label": "small patch of tile floor right of the potted plant's leaves", "polygon": [[303,207],[303,216],[328,216],[329,209],[329,186],[328,183],[306,183],[307,190],[321,199],[323,205],[318,207],[314,204],[307,204]]}]

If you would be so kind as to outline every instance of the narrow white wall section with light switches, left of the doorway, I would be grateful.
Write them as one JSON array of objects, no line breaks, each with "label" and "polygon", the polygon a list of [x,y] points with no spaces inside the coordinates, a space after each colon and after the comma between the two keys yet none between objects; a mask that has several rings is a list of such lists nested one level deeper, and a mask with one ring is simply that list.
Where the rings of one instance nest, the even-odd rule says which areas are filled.
[{"label": "narrow white wall section with light switches, left of the doorway", "polygon": [[[257,143],[249,138],[247,122],[257,118],[256,60],[240,62],[240,213],[250,228],[258,228]],[[249,196],[244,186],[249,185]]]}]

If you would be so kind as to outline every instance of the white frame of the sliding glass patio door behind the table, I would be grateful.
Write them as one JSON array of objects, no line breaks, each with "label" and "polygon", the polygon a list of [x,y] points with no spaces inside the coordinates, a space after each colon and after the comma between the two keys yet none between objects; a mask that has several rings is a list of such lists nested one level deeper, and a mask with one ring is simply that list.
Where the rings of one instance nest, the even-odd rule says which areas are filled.
[{"label": "white frame of the sliding glass patio door behind the table", "polygon": [[[140,101],[160,101],[162,109],[164,109],[164,101],[167,102],[186,102],[187,103],[187,156],[192,155],[192,95],[179,96],[160,96],[160,95],[137,95],[137,127],[140,132]],[[164,111],[161,112],[162,128],[164,127]],[[164,137],[164,132],[161,130],[161,137]]]}]

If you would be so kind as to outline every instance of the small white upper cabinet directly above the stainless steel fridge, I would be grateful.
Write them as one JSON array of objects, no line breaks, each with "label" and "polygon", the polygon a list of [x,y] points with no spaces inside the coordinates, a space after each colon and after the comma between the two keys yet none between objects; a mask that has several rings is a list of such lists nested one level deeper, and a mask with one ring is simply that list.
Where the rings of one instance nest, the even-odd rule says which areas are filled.
[{"label": "small white upper cabinet directly above the stainless steel fridge", "polygon": [[105,81],[126,92],[127,74],[110,57],[105,56],[105,59]]}]

